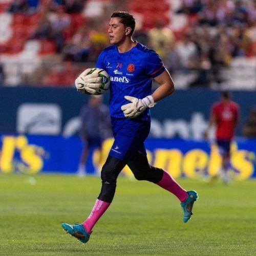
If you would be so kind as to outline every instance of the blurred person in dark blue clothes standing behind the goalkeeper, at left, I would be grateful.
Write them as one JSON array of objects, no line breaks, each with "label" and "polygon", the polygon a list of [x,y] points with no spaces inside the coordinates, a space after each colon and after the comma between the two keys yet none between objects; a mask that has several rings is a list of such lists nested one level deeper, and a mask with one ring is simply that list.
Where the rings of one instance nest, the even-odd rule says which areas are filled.
[{"label": "blurred person in dark blue clothes standing behind the goalkeeper, at left", "polygon": [[91,95],[89,102],[81,109],[80,138],[83,141],[83,149],[77,170],[79,176],[86,174],[86,163],[91,148],[101,150],[103,140],[112,136],[109,107],[102,103],[102,99],[102,95]]}]

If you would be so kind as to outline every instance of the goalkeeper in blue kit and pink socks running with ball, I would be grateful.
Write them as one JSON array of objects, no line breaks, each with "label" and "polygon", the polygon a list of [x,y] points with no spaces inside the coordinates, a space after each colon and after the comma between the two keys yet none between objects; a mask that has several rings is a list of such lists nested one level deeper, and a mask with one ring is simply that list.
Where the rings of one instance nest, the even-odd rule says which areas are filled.
[{"label": "goalkeeper in blue kit and pink socks running with ball", "polygon": [[[150,132],[150,108],[174,92],[174,83],[160,56],[132,39],[134,30],[131,14],[114,12],[108,30],[111,46],[96,63],[111,76],[109,107],[115,140],[101,170],[101,191],[90,216],[81,224],[62,223],[82,243],[88,242],[93,226],[112,203],[117,177],[126,164],[137,180],[153,182],[174,194],[181,202],[184,222],[190,219],[198,198],[196,191],[186,191],[165,170],[147,161],[144,141]],[[159,87],[152,94],[153,79]],[[77,89],[88,94],[95,94],[99,86],[95,74],[81,74],[76,80]]]}]

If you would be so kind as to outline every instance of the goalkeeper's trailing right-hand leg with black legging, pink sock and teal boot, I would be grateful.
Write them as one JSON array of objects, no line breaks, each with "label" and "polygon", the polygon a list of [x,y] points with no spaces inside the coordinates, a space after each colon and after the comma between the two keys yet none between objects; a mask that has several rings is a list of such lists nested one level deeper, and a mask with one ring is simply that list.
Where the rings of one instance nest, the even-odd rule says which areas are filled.
[{"label": "goalkeeper's trailing right-hand leg with black legging, pink sock and teal boot", "polygon": [[187,222],[190,219],[194,202],[198,199],[196,191],[186,191],[166,170],[150,165],[145,154],[136,154],[132,160],[127,161],[127,165],[137,180],[154,182],[174,194],[181,202],[184,211],[183,221]]}]

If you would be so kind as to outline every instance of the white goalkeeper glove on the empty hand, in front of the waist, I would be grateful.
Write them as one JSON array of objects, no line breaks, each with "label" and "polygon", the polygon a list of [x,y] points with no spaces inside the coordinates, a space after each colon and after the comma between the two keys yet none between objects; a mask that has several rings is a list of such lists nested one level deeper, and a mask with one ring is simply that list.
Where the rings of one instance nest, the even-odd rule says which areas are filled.
[{"label": "white goalkeeper glove on the empty hand, in front of the waist", "polygon": [[155,101],[151,95],[143,99],[132,96],[124,96],[124,98],[132,102],[121,106],[124,116],[129,118],[137,117],[145,109],[152,108],[155,105]]}]

